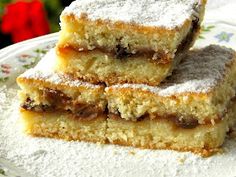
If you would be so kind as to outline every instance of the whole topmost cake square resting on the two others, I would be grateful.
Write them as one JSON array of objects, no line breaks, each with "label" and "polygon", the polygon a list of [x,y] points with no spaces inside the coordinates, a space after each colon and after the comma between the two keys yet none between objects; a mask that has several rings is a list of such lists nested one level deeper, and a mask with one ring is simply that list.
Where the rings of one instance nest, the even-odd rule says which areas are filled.
[{"label": "whole topmost cake square resting on the two others", "polygon": [[74,1],[61,15],[58,70],[107,85],[158,85],[194,43],[205,0]]}]

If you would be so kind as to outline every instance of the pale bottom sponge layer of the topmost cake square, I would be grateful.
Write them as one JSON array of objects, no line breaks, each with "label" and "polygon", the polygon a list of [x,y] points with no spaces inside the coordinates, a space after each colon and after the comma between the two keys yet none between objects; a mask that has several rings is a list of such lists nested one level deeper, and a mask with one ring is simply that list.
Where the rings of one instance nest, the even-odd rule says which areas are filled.
[{"label": "pale bottom sponge layer of the topmost cake square", "polygon": [[72,74],[94,84],[140,83],[157,85],[164,80],[180,57],[166,63],[158,63],[144,55],[117,59],[110,53],[97,49],[80,51],[73,48],[57,48],[57,71]]}]

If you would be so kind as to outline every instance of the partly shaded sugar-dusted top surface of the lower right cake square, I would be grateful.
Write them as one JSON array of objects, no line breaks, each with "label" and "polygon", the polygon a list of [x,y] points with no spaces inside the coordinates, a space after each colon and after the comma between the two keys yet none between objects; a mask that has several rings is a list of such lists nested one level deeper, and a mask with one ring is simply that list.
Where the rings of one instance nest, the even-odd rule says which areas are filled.
[{"label": "partly shaded sugar-dusted top surface of the lower right cake square", "polygon": [[208,93],[224,80],[228,70],[231,69],[231,63],[236,62],[236,54],[232,49],[217,45],[190,51],[183,57],[172,76],[157,87],[144,84],[118,84],[109,88],[141,89],[160,96]]}]

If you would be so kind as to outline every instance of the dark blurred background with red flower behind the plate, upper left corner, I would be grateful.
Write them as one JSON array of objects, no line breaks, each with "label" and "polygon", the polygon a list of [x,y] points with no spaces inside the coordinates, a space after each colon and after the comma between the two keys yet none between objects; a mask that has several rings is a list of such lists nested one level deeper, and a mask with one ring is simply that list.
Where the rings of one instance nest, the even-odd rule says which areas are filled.
[{"label": "dark blurred background with red flower behind the plate, upper left corner", "polygon": [[0,0],[0,48],[59,31],[59,15],[72,0]]}]

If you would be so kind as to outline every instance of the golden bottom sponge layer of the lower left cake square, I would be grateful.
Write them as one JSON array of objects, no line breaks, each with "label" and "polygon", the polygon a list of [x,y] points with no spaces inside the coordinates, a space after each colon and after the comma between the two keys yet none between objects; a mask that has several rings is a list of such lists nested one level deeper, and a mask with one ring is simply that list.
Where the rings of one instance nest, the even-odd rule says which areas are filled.
[{"label": "golden bottom sponge layer of the lower left cake square", "polygon": [[33,112],[21,109],[21,121],[27,134],[39,137],[59,138],[105,143],[106,118],[82,119],[63,112]]}]

